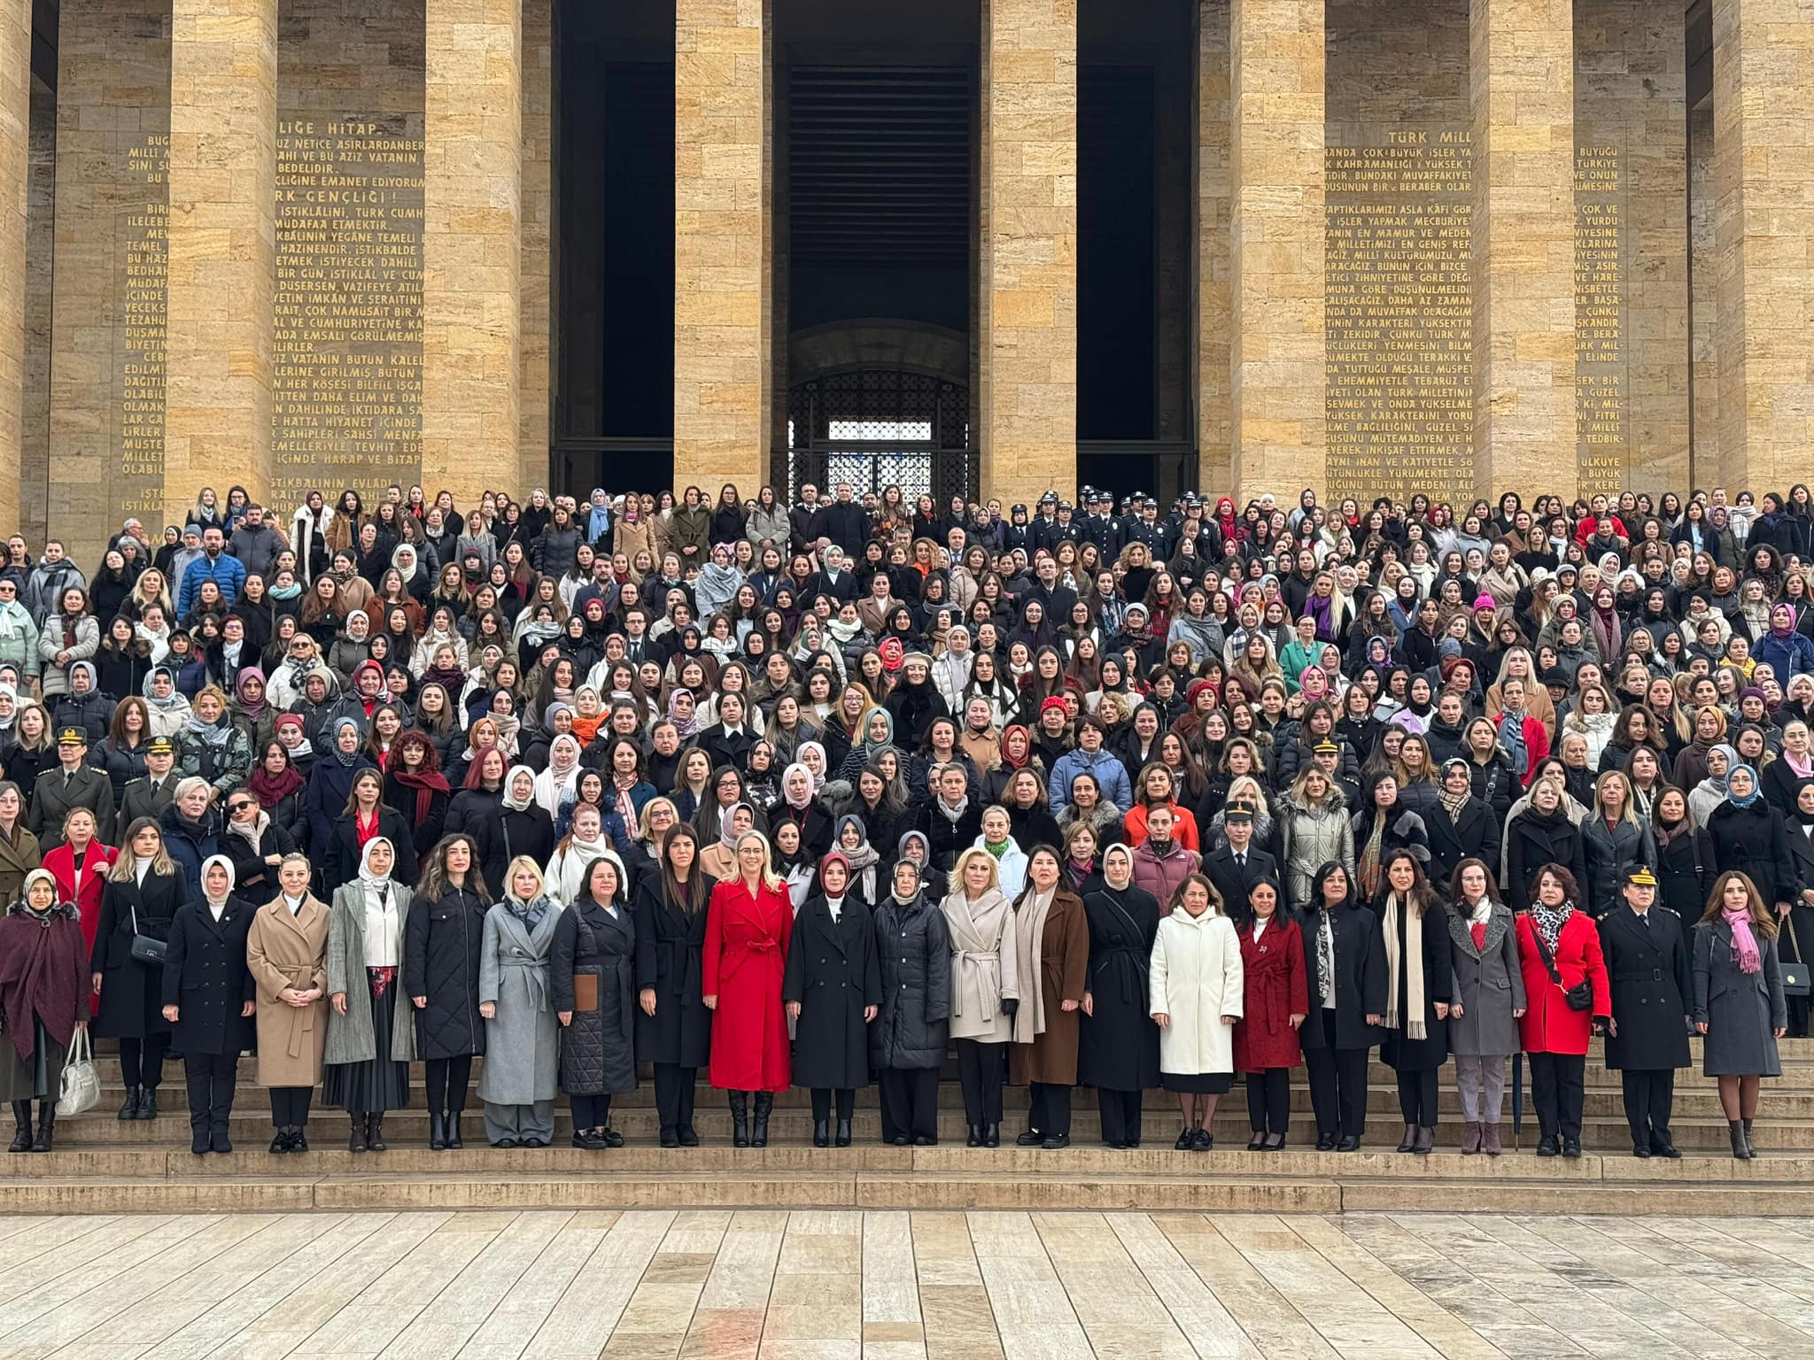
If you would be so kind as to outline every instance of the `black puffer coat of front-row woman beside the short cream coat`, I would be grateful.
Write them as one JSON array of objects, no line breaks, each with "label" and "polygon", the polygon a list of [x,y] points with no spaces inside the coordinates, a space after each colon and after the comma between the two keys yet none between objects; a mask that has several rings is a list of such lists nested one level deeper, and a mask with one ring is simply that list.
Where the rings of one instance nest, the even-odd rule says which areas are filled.
[{"label": "black puffer coat of front-row woman beside the short cream coat", "polygon": [[869,1066],[923,1072],[945,1063],[951,1032],[951,930],[923,892],[889,894],[874,912],[882,1010],[869,1026]]}]

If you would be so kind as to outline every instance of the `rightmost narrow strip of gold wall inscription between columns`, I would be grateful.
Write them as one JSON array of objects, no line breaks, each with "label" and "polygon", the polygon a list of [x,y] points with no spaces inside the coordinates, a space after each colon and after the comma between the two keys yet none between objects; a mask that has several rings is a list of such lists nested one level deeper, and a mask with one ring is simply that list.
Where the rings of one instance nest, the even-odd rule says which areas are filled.
[{"label": "rightmost narrow strip of gold wall inscription between columns", "polygon": [[1580,484],[1620,490],[1629,464],[1625,178],[1618,147],[1575,151],[1575,423]]}]

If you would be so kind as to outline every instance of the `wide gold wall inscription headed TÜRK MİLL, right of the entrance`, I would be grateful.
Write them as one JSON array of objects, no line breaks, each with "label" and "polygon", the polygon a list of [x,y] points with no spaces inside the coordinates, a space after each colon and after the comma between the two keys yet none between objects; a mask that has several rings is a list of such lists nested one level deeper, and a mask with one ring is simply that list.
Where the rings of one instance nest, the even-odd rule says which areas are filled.
[{"label": "wide gold wall inscription headed T\u00dcRK M\u0130LL, right of the entrance", "polygon": [[1330,147],[1330,490],[1473,491],[1473,147],[1458,129]]}]

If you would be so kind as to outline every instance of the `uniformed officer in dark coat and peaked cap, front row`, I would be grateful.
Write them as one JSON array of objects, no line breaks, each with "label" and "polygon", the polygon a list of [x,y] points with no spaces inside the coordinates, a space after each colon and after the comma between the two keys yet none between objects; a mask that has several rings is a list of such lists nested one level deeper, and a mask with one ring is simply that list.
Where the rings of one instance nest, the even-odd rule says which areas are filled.
[{"label": "uniformed officer in dark coat and peaked cap, front row", "polygon": [[1605,1064],[1620,1073],[1633,1157],[1680,1157],[1669,1139],[1676,1068],[1689,1064],[1687,934],[1674,912],[1654,910],[1656,874],[1625,870],[1625,905],[1600,918],[1600,952],[1613,992]]}]

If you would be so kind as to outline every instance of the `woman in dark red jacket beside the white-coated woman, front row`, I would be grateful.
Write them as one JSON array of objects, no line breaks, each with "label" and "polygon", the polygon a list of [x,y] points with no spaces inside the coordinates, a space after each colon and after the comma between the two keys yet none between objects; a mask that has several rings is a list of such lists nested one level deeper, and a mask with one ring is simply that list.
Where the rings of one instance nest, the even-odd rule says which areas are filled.
[{"label": "woman in dark red jacket beside the white-coated woman, front row", "polygon": [[1248,1077],[1248,1151],[1277,1151],[1292,1119],[1292,1068],[1304,1061],[1297,1026],[1310,1014],[1304,937],[1279,910],[1279,885],[1259,879],[1248,901],[1253,919],[1239,927],[1246,1006],[1235,1025],[1235,1072]]}]

